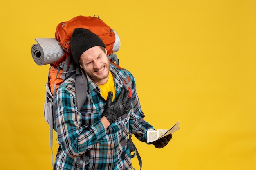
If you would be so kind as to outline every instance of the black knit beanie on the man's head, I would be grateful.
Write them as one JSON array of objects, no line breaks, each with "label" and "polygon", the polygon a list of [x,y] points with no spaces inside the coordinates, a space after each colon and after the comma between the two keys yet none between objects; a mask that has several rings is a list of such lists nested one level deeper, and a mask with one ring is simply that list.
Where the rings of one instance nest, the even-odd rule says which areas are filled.
[{"label": "black knit beanie on the man's head", "polygon": [[74,29],[70,39],[70,50],[78,65],[80,65],[79,59],[83,52],[94,46],[103,46],[106,48],[105,44],[98,37],[98,35],[92,33],[90,30],[83,28]]}]

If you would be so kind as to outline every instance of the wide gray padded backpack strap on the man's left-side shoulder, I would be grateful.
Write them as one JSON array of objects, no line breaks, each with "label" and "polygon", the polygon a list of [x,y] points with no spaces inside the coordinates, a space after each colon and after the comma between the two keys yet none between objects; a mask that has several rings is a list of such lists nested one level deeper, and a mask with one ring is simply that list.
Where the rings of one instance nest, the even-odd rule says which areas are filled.
[{"label": "wide gray padded backpack strap on the man's left-side shoulder", "polygon": [[80,73],[76,76],[75,89],[77,109],[80,111],[87,96],[87,78],[84,73]]}]

